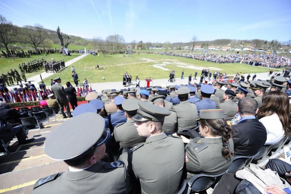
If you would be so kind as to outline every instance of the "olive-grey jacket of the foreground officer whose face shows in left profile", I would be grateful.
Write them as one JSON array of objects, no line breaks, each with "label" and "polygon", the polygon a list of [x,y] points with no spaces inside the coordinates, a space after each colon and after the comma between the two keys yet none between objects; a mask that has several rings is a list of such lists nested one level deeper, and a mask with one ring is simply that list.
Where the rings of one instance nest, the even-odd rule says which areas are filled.
[{"label": "olive-grey jacket of the foreground officer whose face shows in left profile", "polygon": [[184,165],[184,144],[165,133],[148,137],[128,152],[128,170],[139,179],[141,193],[176,193]]}]

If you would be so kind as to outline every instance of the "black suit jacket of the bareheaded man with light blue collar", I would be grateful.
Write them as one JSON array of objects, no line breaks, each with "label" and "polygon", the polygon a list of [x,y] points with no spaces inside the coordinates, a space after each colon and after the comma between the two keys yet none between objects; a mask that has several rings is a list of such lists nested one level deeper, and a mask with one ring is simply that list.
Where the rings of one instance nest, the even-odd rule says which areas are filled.
[{"label": "black suit jacket of the bareheaded man with light blue collar", "polygon": [[233,125],[234,154],[253,156],[267,140],[267,131],[258,119],[246,119]]}]

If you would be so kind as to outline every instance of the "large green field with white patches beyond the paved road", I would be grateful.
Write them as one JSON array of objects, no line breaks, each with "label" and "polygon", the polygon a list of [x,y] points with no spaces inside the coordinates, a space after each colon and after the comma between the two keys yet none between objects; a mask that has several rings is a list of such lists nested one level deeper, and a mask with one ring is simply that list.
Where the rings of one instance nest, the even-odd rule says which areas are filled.
[{"label": "large green field with white patches beyond the paved road", "polygon": [[[95,65],[104,66],[105,70],[95,70]],[[153,67],[157,65],[161,68]],[[181,72],[184,69],[184,77],[188,77],[190,73],[194,75],[196,69],[198,75],[200,75],[202,68],[210,68],[210,71],[214,72],[215,68],[219,68],[220,72],[226,72],[228,75],[235,74],[237,72],[242,73],[262,73],[268,72],[268,68],[254,67],[247,64],[216,64],[205,61],[198,61],[193,59],[187,59],[182,57],[171,57],[159,54],[134,54],[133,57],[123,57],[123,54],[106,55],[103,57],[97,57],[88,55],[83,59],[73,64],[78,76],[79,83],[87,78],[89,83],[102,83],[102,82],[117,82],[122,81],[124,73],[132,75],[132,79],[135,80],[136,76],[139,76],[141,80],[145,78],[162,79],[168,78],[171,70],[175,69],[176,77],[181,76]],[[84,70],[87,67],[87,71]],[[50,83],[50,79],[60,76],[63,82],[73,82],[71,69],[65,68],[61,72],[46,78],[45,84]],[[105,79],[103,80],[102,77]]]}]

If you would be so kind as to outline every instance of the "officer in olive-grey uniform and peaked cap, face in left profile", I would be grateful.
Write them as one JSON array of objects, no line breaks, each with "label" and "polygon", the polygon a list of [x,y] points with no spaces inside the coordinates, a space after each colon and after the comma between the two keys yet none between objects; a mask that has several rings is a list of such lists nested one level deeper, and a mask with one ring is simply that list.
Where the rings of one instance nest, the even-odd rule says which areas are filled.
[{"label": "officer in olive-grey uniform and peaked cap, face in left profile", "polygon": [[[139,102],[132,119],[138,134],[146,140],[128,152],[128,170],[135,183],[133,193],[176,193],[179,189],[184,144],[180,137],[162,132],[164,117],[170,114],[165,108]],[[141,188],[135,188],[139,183]]]}]

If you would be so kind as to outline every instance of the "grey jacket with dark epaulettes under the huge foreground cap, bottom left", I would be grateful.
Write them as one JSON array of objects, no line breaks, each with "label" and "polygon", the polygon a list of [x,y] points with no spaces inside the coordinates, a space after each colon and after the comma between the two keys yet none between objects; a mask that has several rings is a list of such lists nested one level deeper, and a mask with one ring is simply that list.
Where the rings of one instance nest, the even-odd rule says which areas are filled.
[{"label": "grey jacket with dark epaulettes under the huge foreground cap, bottom left", "polygon": [[130,184],[122,161],[99,161],[86,170],[50,175],[34,185],[32,193],[129,193]]}]

